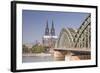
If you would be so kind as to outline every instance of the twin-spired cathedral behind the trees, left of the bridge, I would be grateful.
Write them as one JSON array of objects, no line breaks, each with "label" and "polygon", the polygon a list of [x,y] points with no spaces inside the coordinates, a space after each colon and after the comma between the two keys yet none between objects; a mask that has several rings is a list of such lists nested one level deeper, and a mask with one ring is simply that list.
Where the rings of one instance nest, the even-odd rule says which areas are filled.
[{"label": "twin-spired cathedral behind the trees, left of the bridge", "polygon": [[48,26],[48,21],[47,21],[46,27],[45,27],[45,33],[43,36],[43,45],[50,50],[50,48],[55,47],[56,40],[57,40],[57,36],[55,35],[54,23],[52,21],[51,29],[50,29]]}]

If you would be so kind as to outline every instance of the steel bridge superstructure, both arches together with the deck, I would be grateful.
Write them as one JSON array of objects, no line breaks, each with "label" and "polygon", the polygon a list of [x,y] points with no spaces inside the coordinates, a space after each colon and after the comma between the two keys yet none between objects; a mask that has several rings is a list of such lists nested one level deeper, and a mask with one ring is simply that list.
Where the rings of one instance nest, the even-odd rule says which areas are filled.
[{"label": "steel bridge superstructure, both arches together with the deck", "polygon": [[55,45],[56,51],[70,51],[74,54],[91,53],[91,15],[87,16],[78,29],[63,28]]}]

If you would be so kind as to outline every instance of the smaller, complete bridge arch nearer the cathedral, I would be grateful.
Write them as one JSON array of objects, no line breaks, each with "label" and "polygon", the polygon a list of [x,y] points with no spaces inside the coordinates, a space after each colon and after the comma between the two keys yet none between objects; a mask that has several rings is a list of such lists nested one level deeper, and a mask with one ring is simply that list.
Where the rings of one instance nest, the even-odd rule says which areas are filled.
[{"label": "smaller, complete bridge arch nearer the cathedral", "polygon": [[74,45],[74,35],[75,30],[72,28],[63,28],[60,32],[58,41],[57,41],[57,48],[70,48]]}]

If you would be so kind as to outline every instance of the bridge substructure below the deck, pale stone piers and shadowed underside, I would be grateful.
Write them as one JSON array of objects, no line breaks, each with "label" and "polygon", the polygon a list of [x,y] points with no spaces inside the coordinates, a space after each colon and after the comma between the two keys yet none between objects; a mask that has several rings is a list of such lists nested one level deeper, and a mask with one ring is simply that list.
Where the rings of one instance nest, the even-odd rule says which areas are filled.
[{"label": "bridge substructure below the deck, pale stone piers and shadowed underside", "polygon": [[[75,49],[74,49],[75,50]],[[79,50],[79,49],[78,49]],[[56,61],[74,61],[74,60],[88,60],[91,59],[90,51],[69,51],[62,49],[54,49],[54,60]]]}]

